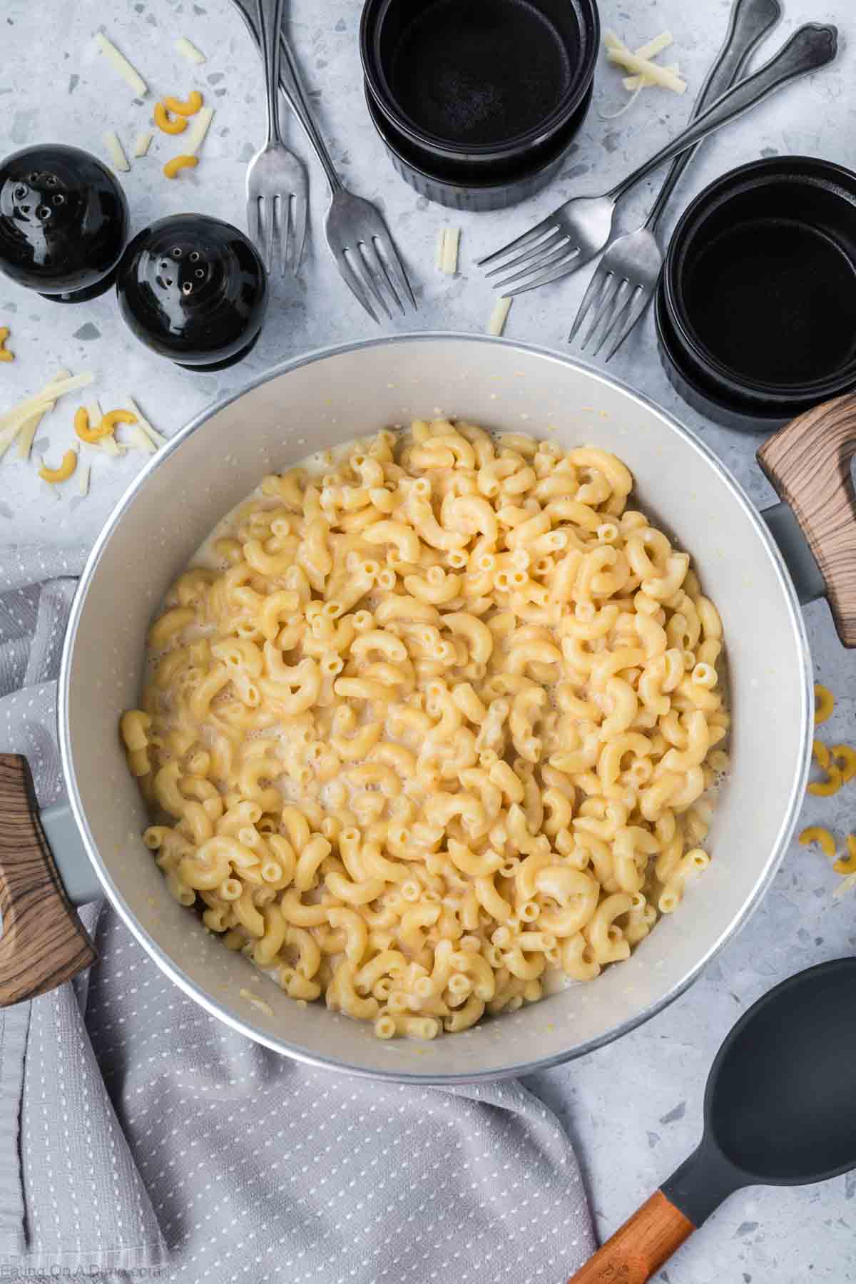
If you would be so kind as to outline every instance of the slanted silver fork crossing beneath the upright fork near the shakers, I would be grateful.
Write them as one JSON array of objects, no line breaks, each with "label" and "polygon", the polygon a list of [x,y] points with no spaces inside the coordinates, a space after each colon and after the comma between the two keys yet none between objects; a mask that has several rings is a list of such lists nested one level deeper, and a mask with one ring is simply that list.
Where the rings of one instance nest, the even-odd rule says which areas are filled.
[{"label": "slanted silver fork crossing beneath the upright fork near the shakers", "polygon": [[[235,0],[250,33],[258,40],[249,0]],[[375,307],[391,320],[389,302],[404,313],[404,302],[417,303],[404,265],[380,211],[370,200],[355,196],[341,182],[326,143],[314,123],[300,74],[285,33],[280,35],[282,63],[280,89],[304,128],[330,184],[331,202],[325,218],[327,245],[345,284],[377,321]],[[403,302],[404,300],[404,302]]]}]

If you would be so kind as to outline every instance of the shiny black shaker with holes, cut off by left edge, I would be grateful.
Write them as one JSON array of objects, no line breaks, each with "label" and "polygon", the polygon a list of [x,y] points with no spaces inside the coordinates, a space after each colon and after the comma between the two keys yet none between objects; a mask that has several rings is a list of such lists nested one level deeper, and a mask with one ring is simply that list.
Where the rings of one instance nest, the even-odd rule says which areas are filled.
[{"label": "shiny black shaker with holes, cut off by left edge", "polygon": [[0,162],[0,271],[58,303],[108,290],[128,235],[118,180],[89,152],[41,144]]}]

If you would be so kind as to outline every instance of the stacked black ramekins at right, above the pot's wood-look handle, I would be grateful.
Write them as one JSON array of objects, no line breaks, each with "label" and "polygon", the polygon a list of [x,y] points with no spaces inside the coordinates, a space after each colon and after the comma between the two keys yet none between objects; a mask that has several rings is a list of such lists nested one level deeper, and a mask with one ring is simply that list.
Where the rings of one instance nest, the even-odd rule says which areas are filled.
[{"label": "stacked black ramekins at right, above the pot's wood-look handle", "polygon": [[856,173],[740,166],[684,212],[656,297],[666,374],[697,410],[767,431],[856,386]]}]

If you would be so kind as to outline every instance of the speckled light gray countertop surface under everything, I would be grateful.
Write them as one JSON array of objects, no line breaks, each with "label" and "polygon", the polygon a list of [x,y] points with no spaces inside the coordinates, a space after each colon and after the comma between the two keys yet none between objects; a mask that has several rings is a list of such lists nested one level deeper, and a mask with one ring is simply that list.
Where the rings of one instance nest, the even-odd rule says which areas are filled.
[{"label": "speckled light gray countertop surface under everything", "polygon": [[[807,153],[856,167],[856,76],[847,48],[856,30],[852,0],[784,0],[787,18],[764,46],[764,60],[800,22],[841,26],[837,64],[791,86],[725,135],[711,140],[672,200],[670,220],[712,177],[758,155]],[[286,6],[287,8],[287,6]],[[606,27],[638,44],[663,27],[676,36],[685,99],[649,92],[624,117],[604,121],[620,103],[616,77],[598,69],[594,107],[560,178],[548,191],[501,214],[452,214],[416,196],[389,167],[362,100],[357,30],[359,0],[291,0],[290,23],[322,126],[345,180],[377,200],[406,252],[420,298],[420,329],[480,331],[492,294],[474,263],[543,217],[571,194],[601,191],[680,127],[726,23],[728,0],[601,0]],[[101,134],[114,127],[131,146],[146,113],[100,64],[92,33],[105,30],[148,74],[158,92],[189,85],[190,67],[173,51],[190,36],[208,55],[196,81],[217,108],[199,169],[176,184],[160,175],[172,154],[168,140],[122,177],[133,229],[153,217],[203,209],[243,222],[244,169],[263,136],[261,72],[237,13],[227,0],[4,0],[0,6],[0,153],[36,141],[73,143],[103,153]],[[289,123],[296,150],[307,155],[299,127]],[[157,149],[157,150],[155,150]],[[341,286],[320,229],[326,204],[321,172],[309,162],[314,240],[302,279],[277,281],[270,321],[252,357],[219,375],[198,376],[151,358],[118,320],[110,295],[63,308],[0,279],[0,325],[12,327],[14,365],[0,366],[0,411],[41,386],[64,366],[98,372],[94,389],[107,403],[131,393],[153,422],[175,433],[208,401],[221,397],[285,357],[338,340],[375,333]],[[651,186],[628,203],[622,218],[639,222]],[[461,272],[432,270],[438,230],[459,225]],[[669,229],[666,227],[666,231]],[[585,288],[580,277],[517,299],[507,335],[565,347],[565,336]],[[402,324],[399,329],[406,329]],[[611,367],[692,428],[698,429],[765,503],[771,492],[753,458],[756,442],[711,424],[683,406],[660,369],[651,317]],[[65,416],[67,417],[67,416]],[[51,460],[67,443],[63,416],[45,421],[39,439]],[[32,469],[15,458],[0,467],[0,544],[14,541],[91,542],[141,456],[119,464],[98,460],[86,499],[73,487],[58,498]],[[830,734],[853,740],[856,657],[847,656],[825,603],[806,612],[816,673],[837,693]],[[811,800],[805,820],[824,819],[838,832],[856,829],[856,792],[832,801]],[[811,963],[851,954],[856,948],[856,898],[834,901],[837,876],[816,851],[792,845],[775,883],[742,935],[702,980],[670,1009],[617,1044],[561,1070],[535,1076],[533,1085],[561,1115],[588,1177],[602,1234],[611,1233],[694,1147],[710,1062],[734,1019],[776,981]],[[856,1102],[856,1067],[855,1102]],[[855,1106],[856,1108],[856,1106]],[[856,1280],[856,1174],[806,1189],[751,1189],[726,1206],[672,1258],[658,1276],[669,1284],[805,1284]],[[522,1284],[522,1279],[520,1281]],[[558,1284],[558,1281],[557,1281]]]}]

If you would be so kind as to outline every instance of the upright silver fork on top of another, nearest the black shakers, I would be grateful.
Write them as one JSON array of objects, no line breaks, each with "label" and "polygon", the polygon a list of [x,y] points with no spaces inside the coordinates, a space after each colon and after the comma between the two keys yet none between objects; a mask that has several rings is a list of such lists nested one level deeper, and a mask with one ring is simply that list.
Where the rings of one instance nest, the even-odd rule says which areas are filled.
[{"label": "upright silver fork on top of another, nearest the black shakers", "polygon": [[246,171],[246,227],[268,272],[296,272],[307,235],[308,185],[302,162],[280,134],[280,41],[284,0],[258,0],[258,30],[267,104],[267,143]]}]

